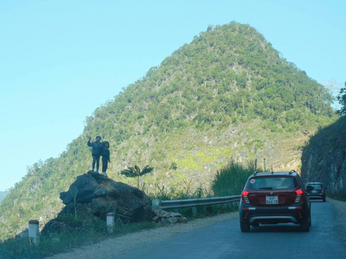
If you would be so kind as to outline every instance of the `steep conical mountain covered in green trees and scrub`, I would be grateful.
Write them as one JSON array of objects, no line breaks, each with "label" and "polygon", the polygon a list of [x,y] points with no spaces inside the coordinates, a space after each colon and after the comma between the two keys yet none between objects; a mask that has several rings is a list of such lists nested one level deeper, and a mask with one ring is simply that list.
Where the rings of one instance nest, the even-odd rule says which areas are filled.
[{"label": "steep conical mountain covered in green trees and scrub", "polygon": [[209,26],[97,108],[60,157],[31,166],[1,204],[0,235],[61,210],[59,193],[91,168],[88,136],[110,142],[114,180],[131,182],[119,172],[149,164],[149,191],[207,188],[230,159],[299,167],[309,134],[336,119],[331,99],[251,26]]}]

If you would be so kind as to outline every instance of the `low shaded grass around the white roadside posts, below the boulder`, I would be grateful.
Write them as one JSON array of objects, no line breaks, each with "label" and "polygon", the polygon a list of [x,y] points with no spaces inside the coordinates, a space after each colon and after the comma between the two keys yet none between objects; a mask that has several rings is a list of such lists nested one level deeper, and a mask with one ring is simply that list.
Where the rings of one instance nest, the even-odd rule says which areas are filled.
[{"label": "low shaded grass around the white roadside posts, below the boulder", "polygon": [[75,219],[74,215],[64,217],[61,220],[73,226],[74,229],[67,233],[40,235],[38,245],[30,245],[27,237],[20,240],[10,238],[0,242],[0,258],[38,259],[105,239],[156,227],[151,221],[142,223],[122,223],[118,221],[114,224],[113,233],[107,234],[106,222],[102,219],[92,224],[85,224],[80,218]]}]

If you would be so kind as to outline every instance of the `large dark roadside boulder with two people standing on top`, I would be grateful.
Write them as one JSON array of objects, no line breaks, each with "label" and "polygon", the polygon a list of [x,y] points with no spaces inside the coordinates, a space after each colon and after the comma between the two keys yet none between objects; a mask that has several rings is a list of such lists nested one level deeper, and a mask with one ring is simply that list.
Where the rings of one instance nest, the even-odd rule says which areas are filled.
[{"label": "large dark roadside boulder with two people standing on top", "polygon": [[145,193],[94,171],[78,176],[67,192],[60,193],[60,198],[66,206],[44,226],[42,234],[83,229],[105,220],[110,212],[116,214],[116,220],[127,222],[152,219],[152,208]]}]

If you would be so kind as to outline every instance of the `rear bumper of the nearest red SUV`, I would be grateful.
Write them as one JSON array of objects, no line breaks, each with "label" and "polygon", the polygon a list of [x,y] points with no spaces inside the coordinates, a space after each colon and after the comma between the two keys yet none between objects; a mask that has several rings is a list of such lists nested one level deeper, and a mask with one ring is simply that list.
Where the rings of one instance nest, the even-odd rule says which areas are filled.
[{"label": "rear bumper of the nearest red SUV", "polygon": [[306,220],[308,217],[307,204],[304,202],[296,203],[292,206],[252,206],[244,204],[239,205],[240,220],[250,224],[277,224],[277,223],[295,223]]}]

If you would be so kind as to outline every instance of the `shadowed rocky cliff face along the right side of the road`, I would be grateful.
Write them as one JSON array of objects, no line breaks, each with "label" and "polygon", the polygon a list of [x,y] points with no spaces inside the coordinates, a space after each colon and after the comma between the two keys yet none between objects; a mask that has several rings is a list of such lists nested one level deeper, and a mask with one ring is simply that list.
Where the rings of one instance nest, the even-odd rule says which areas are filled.
[{"label": "shadowed rocky cliff face along the right side of the road", "polygon": [[322,182],[327,193],[346,198],[346,118],[311,137],[302,154],[305,182]]}]

